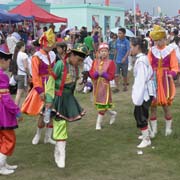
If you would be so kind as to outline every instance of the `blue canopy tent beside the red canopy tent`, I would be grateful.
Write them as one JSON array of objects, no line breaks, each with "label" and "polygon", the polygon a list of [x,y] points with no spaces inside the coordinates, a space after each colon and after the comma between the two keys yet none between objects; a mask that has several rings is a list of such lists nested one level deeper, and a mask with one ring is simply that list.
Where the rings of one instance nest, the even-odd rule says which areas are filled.
[{"label": "blue canopy tent beside the red canopy tent", "polygon": [[11,14],[6,10],[0,9],[0,23],[18,23],[24,20],[33,20],[33,16],[22,16],[20,14]]}]

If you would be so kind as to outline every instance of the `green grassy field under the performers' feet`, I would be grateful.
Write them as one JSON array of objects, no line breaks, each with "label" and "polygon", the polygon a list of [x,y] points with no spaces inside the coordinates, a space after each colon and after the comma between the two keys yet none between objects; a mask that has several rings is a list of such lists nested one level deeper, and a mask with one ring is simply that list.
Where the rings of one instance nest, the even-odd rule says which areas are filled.
[{"label": "green grassy field under the performers' feet", "polygon": [[165,122],[158,110],[158,136],[152,146],[137,155],[139,131],[133,117],[131,87],[113,95],[117,121],[109,125],[106,115],[103,130],[95,131],[96,110],[89,94],[77,94],[87,115],[70,123],[66,168],[58,169],[53,159],[53,145],[31,144],[36,118],[25,117],[17,129],[15,153],[8,162],[18,164],[16,173],[0,180],[179,180],[180,179],[180,88],[172,106],[174,131],[165,137]]}]

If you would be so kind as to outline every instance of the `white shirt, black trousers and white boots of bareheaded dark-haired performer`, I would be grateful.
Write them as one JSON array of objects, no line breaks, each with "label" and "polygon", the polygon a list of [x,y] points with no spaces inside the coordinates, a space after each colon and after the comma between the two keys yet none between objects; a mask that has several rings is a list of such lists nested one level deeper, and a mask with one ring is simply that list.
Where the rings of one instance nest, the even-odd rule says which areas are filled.
[{"label": "white shirt, black trousers and white boots of bareheaded dark-haired performer", "polygon": [[135,105],[134,117],[137,128],[140,128],[142,133],[142,142],[137,147],[144,148],[151,145],[148,130],[149,107],[153,97],[156,96],[156,90],[152,79],[153,70],[147,56],[139,53],[136,58],[132,100]]}]

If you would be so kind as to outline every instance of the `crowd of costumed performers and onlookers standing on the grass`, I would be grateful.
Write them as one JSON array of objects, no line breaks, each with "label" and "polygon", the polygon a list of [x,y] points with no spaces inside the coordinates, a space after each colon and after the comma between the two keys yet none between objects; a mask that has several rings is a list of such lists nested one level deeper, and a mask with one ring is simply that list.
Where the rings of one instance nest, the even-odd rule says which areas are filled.
[{"label": "crowd of costumed performers and onlookers standing on the grass", "polygon": [[[0,174],[12,174],[17,168],[17,165],[7,164],[7,157],[14,151],[14,129],[18,127],[22,113],[39,115],[32,144],[39,143],[45,128],[44,143],[55,146],[55,163],[59,168],[65,167],[67,123],[80,120],[86,114],[74,96],[81,65],[84,66],[81,83],[89,91],[93,89],[96,130],[102,129],[105,113],[110,115],[110,124],[116,120],[117,112],[112,110],[111,82],[115,80],[113,92],[119,93],[122,74],[123,91],[128,91],[128,59],[132,56],[135,57],[132,102],[137,128],[142,133],[137,147],[151,145],[151,139],[157,135],[157,106],[164,111],[165,136],[171,135],[171,104],[180,63],[177,27],[169,35],[165,28],[154,25],[145,35],[141,33],[135,38],[126,37],[126,29],[119,28],[117,34],[109,34],[106,42],[100,27],[92,32],[86,27],[80,30],[63,27],[56,34],[54,29],[54,25],[39,28],[38,38],[31,42],[26,42],[18,32],[2,33]],[[17,87],[15,100],[10,95],[9,84],[11,88]]]}]

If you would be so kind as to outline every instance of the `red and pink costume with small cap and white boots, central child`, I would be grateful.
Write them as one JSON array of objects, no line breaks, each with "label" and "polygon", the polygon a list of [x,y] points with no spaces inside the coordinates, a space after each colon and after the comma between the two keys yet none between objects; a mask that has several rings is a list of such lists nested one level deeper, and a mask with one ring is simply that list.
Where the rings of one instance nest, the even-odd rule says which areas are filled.
[{"label": "red and pink costume with small cap and white boots, central child", "polygon": [[[100,44],[98,51],[101,49],[108,49],[109,46],[105,43]],[[112,60],[107,59],[95,59],[93,61],[89,75],[93,80],[93,95],[94,104],[98,110],[98,118],[96,122],[96,130],[101,129],[101,123],[103,121],[104,113],[109,110],[111,115],[110,124],[113,124],[116,117],[116,112],[112,109],[112,97],[110,81],[115,76],[115,63]]]}]

